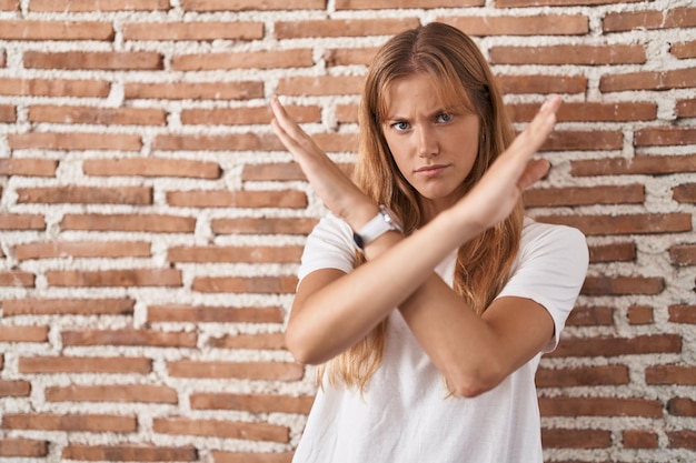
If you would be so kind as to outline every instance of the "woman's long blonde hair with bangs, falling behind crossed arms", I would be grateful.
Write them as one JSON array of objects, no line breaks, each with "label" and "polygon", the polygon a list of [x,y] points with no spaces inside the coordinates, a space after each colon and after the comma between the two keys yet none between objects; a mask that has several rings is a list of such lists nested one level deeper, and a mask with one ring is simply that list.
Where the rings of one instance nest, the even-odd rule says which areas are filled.
[{"label": "woman's long blonde hair with bangs, falling behind crossed arms", "polygon": [[[429,23],[392,37],[375,57],[367,74],[359,112],[360,145],[356,183],[376,202],[388,205],[404,220],[406,234],[421,225],[419,195],[397,168],[381,130],[390,85],[414,73],[429,76],[444,102],[459,101],[479,115],[478,153],[465,179],[468,191],[511,143],[514,131],[503,97],[476,43],[458,29]],[[481,314],[500,292],[517,255],[523,204],[503,222],[458,250],[454,289]],[[358,263],[362,263],[358,255]],[[318,369],[328,369],[331,384],[342,381],[364,391],[381,362],[387,319],[354,346]]]}]

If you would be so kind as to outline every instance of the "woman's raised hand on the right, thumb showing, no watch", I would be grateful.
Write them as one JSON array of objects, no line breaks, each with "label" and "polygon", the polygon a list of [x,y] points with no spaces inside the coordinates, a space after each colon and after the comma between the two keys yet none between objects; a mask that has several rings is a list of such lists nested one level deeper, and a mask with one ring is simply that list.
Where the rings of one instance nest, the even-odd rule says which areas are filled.
[{"label": "woman's raised hand on the right, thumb showing, no watch", "polygon": [[556,124],[560,97],[554,95],[539,109],[527,128],[503,152],[476,187],[455,208],[463,220],[479,231],[495,225],[511,211],[523,192],[549,169],[543,159],[531,160]]}]

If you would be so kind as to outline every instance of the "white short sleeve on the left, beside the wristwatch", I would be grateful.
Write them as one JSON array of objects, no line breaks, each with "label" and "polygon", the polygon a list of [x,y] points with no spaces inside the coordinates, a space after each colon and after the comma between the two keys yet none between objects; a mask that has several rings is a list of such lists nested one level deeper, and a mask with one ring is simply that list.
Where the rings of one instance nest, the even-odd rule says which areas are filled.
[{"label": "white short sleeve on the left, beside the wristwatch", "polygon": [[338,269],[346,273],[355,266],[355,244],[350,227],[338,217],[324,217],[307,236],[298,270],[301,281],[320,269]]}]

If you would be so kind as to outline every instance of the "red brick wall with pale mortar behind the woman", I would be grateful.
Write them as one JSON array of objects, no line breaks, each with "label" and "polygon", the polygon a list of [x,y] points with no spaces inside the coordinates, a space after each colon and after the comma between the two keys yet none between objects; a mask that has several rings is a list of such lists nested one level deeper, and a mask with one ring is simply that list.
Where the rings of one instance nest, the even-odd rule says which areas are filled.
[{"label": "red brick wall with pale mortar behind the woman", "polygon": [[0,0],[3,462],[290,461],[315,385],[282,329],[322,208],[268,98],[349,169],[376,47],[434,20],[518,129],[566,101],[527,200],[591,264],[537,378],[547,461],[696,461],[689,0]]}]

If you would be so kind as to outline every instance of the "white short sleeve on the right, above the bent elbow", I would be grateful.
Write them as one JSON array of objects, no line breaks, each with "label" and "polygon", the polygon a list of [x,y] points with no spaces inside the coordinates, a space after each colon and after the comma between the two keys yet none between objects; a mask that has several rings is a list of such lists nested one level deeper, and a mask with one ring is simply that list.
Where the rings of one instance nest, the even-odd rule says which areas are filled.
[{"label": "white short sleeve on the right, above the bent elbow", "polygon": [[513,295],[531,299],[554,319],[554,339],[544,352],[556,349],[560,332],[580,292],[589,252],[587,240],[577,229],[527,220],[520,252],[498,298]]}]

